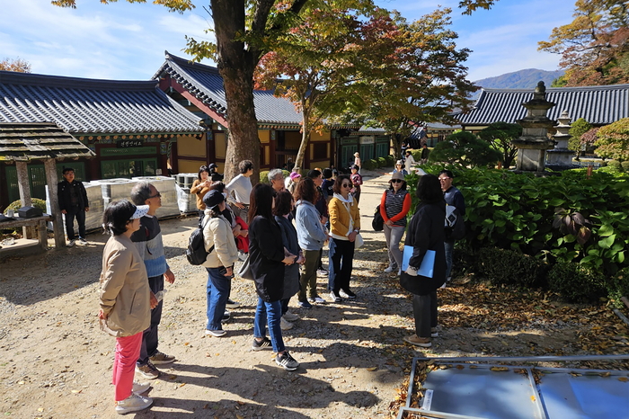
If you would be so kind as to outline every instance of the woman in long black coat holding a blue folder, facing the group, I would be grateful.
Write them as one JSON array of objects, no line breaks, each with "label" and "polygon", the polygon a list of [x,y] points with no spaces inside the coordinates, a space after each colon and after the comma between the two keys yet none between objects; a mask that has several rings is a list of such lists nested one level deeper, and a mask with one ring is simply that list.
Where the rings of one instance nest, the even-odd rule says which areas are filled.
[{"label": "woman in long black coat holding a blue folder, facing the group", "polygon": [[[421,176],[417,185],[420,203],[412,216],[404,245],[413,248],[409,267],[402,272],[400,282],[412,292],[412,312],[415,317],[415,334],[404,341],[430,348],[430,337],[437,337],[437,289],[446,281],[446,251],[444,248],[444,220],[446,202],[439,178],[433,174]],[[435,251],[432,278],[418,275],[421,261],[428,250]]]}]

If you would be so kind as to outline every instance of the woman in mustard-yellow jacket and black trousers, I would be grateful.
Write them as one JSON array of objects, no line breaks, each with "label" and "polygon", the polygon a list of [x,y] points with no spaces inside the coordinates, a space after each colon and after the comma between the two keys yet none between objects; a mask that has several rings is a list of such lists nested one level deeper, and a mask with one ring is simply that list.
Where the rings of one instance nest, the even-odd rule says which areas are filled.
[{"label": "woman in mustard-yellow jacket and black trousers", "polygon": [[356,236],[360,231],[360,213],[359,203],[350,195],[352,187],[350,176],[341,174],[332,186],[334,195],[328,203],[330,213],[328,289],[333,302],[341,302],[341,297],[356,299],[356,294],[350,290],[350,277]]}]

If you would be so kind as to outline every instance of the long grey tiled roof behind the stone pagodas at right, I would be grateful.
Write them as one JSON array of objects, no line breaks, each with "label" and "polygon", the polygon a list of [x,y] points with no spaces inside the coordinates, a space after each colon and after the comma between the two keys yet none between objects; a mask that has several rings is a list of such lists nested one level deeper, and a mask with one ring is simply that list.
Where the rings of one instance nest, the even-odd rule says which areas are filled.
[{"label": "long grey tiled roof behind the stone pagodas at right", "polygon": [[[474,108],[457,115],[465,126],[521,120],[527,110],[522,103],[533,99],[535,88],[483,89]],[[568,111],[571,120],[583,118],[593,125],[607,125],[629,117],[629,85],[546,88],[546,100],[556,105],[547,113],[556,120]]]}]

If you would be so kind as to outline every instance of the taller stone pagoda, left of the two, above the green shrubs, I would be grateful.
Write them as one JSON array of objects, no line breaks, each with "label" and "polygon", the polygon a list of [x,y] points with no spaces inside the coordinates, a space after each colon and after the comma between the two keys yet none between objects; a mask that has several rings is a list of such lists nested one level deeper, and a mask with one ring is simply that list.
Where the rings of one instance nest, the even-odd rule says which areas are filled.
[{"label": "taller stone pagoda, left of the two, above the green shrubs", "polygon": [[546,116],[546,112],[554,103],[546,101],[544,82],[537,83],[533,99],[522,103],[522,106],[527,108],[527,116],[517,120],[522,126],[522,136],[511,142],[518,148],[517,170],[544,172],[546,150],[554,148],[554,140],[547,135],[548,129],[553,128],[556,123]]}]

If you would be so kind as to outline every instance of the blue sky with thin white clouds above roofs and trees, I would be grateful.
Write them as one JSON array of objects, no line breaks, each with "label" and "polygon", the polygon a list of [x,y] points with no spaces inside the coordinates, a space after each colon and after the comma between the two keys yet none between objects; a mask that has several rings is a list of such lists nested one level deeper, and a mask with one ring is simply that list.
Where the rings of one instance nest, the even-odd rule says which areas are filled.
[{"label": "blue sky with thin white clouds above roofs and trees", "polygon": [[[146,80],[164,62],[164,50],[186,57],[184,35],[212,40],[203,30],[211,19],[198,3],[190,13],[168,13],[163,6],[78,0],[64,9],[48,0],[3,0],[0,59],[22,58],[32,72],[118,80]],[[500,0],[490,11],[464,16],[458,0],[377,0],[407,20],[420,19],[440,5],[451,7],[457,45],[474,52],[469,79],[499,76],[524,68],[555,70],[559,56],[538,52],[537,41],[571,22],[574,0]],[[212,65],[211,62],[206,64]]]}]

